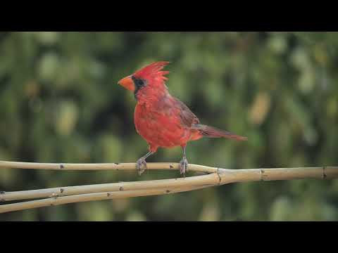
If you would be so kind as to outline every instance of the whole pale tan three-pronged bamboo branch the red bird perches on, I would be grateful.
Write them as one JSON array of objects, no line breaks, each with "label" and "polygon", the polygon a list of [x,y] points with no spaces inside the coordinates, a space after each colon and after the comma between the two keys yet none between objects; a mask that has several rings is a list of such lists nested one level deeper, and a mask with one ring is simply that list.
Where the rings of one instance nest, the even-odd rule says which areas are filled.
[{"label": "whole pale tan three-pronged bamboo branch the red bird perches on", "polygon": [[[63,164],[62,164],[63,165]],[[0,168],[23,169],[61,169],[61,164],[36,164],[27,162],[0,162]],[[149,169],[178,169],[175,163],[149,163]],[[136,169],[135,164],[64,164],[65,170],[97,170],[97,169]],[[274,181],[292,179],[337,179],[338,167],[298,167],[268,169],[220,169],[197,164],[189,164],[189,170],[211,173],[204,176],[192,176],[181,179],[163,179],[156,181],[106,183],[89,186],[69,186],[63,188],[47,188],[41,190],[23,190],[17,192],[0,192],[0,201],[23,200],[49,197],[44,200],[0,205],[1,212],[63,205],[71,202],[104,200],[106,197],[139,197],[145,195],[162,195],[196,190],[225,183],[249,181]],[[104,195],[107,195],[106,197]],[[58,200],[57,202],[55,202]]]}]

